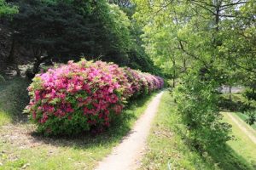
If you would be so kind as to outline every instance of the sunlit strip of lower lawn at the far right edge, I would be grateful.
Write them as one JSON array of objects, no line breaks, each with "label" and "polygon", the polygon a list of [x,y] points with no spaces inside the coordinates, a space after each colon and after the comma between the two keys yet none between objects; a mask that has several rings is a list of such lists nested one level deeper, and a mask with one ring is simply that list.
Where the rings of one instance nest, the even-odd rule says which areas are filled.
[{"label": "sunlit strip of lower lawn at the far right edge", "polygon": [[[235,116],[235,114],[233,114]],[[237,117],[238,118],[238,117]],[[224,114],[224,121],[232,125],[232,134],[236,138],[228,142],[232,150],[236,150],[236,154],[243,157],[249,162],[252,169],[256,168],[256,144],[243,133],[236,123],[230,120],[230,117]],[[244,123],[244,122],[243,122]],[[254,166],[254,167],[253,167]]]}]

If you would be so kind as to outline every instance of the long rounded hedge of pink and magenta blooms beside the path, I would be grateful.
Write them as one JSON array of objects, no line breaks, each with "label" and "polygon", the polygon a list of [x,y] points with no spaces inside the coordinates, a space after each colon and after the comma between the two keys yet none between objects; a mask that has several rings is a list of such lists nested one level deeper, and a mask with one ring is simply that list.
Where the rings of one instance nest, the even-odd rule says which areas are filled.
[{"label": "long rounded hedge of pink and magenta blooms beside the path", "polygon": [[34,77],[25,111],[41,133],[82,133],[108,127],[127,99],[163,86],[161,77],[113,63],[70,61]]}]

